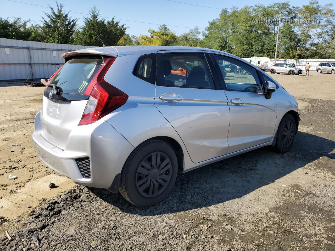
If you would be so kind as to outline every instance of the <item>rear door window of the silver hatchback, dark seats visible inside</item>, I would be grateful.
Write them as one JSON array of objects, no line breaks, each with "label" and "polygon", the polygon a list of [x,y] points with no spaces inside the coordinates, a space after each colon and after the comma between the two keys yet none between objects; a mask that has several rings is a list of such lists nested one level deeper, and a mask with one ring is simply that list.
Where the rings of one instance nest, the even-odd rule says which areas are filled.
[{"label": "rear door window of the silver hatchback, dark seats visible inside", "polygon": [[[164,53],[161,59],[159,85],[175,87],[214,88],[214,82],[203,53]],[[184,74],[173,71],[181,68]]]}]

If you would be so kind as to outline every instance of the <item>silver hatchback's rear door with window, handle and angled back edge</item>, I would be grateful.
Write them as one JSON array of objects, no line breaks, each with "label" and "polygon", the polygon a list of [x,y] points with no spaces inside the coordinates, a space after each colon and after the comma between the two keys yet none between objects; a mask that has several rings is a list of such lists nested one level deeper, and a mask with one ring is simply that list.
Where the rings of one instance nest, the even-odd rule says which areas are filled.
[{"label": "silver hatchback's rear door with window, handle and angled back edge", "polygon": [[[216,72],[211,74],[208,59],[201,51],[157,53],[155,105],[177,131],[194,163],[225,155],[228,149],[228,100]],[[186,71],[182,84],[169,80],[172,64]]]}]

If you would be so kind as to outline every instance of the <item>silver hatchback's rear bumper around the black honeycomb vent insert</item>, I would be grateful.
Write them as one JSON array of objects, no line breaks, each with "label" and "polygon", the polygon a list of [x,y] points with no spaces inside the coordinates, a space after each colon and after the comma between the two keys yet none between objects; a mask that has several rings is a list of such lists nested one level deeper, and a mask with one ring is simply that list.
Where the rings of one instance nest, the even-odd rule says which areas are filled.
[{"label": "silver hatchback's rear bumper around the black honeycomb vent insert", "polygon": [[[32,135],[39,158],[51,169],[70,177],[75,183],[100,188],[110,188],[121,173],[123,164],[134,147],[109,123],[99,120],[93,124],[77,126],[68,137],[65,150],[42,137],[41,113],[35,116]],[[80,173],[75,159],[89,157],[90,178]]]}]

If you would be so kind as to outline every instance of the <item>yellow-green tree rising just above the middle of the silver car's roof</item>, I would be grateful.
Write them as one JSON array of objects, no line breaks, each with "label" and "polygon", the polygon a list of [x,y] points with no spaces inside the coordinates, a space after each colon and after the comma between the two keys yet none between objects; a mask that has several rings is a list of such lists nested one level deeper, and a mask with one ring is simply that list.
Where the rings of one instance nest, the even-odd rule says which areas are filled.
[{"label": "yellow-green tree rising just above the middle of the silver car's roof", "polygon": [[149,29],[150,35],[139,35],[134,37],[135,45],[176,45],[177,36],[173,30],[166,27],[165,24],[159,25],[158,30]]}]

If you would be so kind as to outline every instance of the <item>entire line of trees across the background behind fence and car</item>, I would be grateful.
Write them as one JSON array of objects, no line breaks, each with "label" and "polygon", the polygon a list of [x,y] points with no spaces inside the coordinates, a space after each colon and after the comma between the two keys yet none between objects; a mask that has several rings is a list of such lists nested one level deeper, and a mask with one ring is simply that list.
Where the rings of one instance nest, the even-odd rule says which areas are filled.
[{"label": "entire line of trees across the background behind fence and car", "polygon": [[[194,46],[225,51],[239,57],[256,55],[274,58],[278,29],[278,15],[282,22],[278,43],[278,58],[313,59],[335,58],[335,12],[332,4],[320,5],[310,1],[301,7],[289,2],[270,5],[256,4],[244,8],[222,9],[218,18],[208,22],[203,32],[190,29],[181,35],[160,25],[149,29],[149,35],[126,33],[128,28],[114,18],[99,18],[99,10],[93,7],[84,25],[63,11],[63,4],[42,17],[42,24],[30,25],[31,20],[0,18],[0,37],[47,43],[87,46],[162,45]],[[98,35],[98,36],[97,36]],[[201,36],[202,35],[202,36]]]}]

